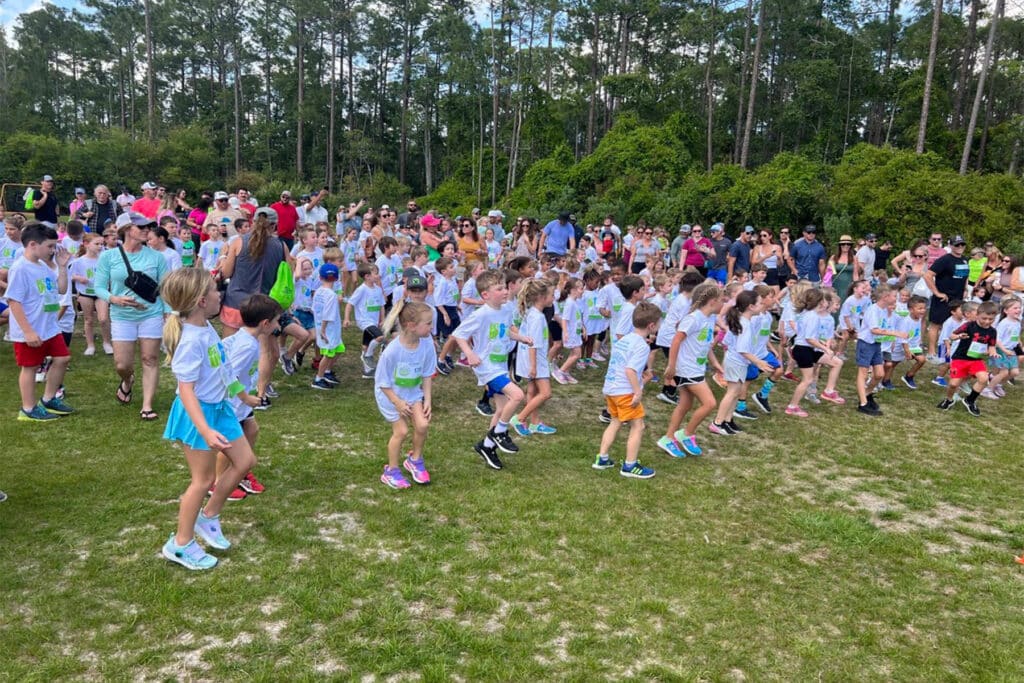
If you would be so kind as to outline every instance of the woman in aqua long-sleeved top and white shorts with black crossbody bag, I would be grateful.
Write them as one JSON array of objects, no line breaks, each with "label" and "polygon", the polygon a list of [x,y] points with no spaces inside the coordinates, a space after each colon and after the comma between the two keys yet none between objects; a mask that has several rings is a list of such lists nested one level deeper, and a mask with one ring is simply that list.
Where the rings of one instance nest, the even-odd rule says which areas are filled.
[{"label": "woman in aqua long-sleeved top and white shorts with black crossbody bag", "polygon": [[132,387],[135,385],[135,342],[139,345],[142,359],[142,420],[156,420],[153,399],[157,395],[160,381],[160,340],[164,333],[164,302],[157,299],[150,303],[128,289],[125,280],[128,268],[144,272],[160,283],[167,272],[167,261],[156,251],[145,246],[150,239],[150,228],[154,223],[136,213],[121,214],[118,217],[120,249],[108,249],[96,262],[96,296],[110,304],[111,338],[114,341],[114,367],[121,383],[117,398],[127,405],[131,402]]}]

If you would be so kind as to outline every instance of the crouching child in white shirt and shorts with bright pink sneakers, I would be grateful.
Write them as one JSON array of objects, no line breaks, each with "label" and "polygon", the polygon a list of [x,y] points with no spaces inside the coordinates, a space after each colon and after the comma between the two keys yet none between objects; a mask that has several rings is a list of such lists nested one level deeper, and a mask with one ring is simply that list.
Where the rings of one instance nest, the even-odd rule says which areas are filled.
[{"label": "crouching child in white shirt and shorts with bright pink sneakers", "polygon": [[413,481],[430,483],[430,473],[423,464],[423,444],[430,426],[431,382],[437,369],[437,353],[430,338],[434,311],[425,303],[396,301],[398,338],[385,347],[374,377],[377,410],[391,423],[387,442],[388,464],[381,481],[392,488],[409,488],[409,480],[398,469],[401,445],[413,427],[413,450],[401,466]]}]

